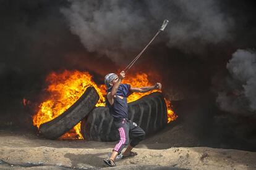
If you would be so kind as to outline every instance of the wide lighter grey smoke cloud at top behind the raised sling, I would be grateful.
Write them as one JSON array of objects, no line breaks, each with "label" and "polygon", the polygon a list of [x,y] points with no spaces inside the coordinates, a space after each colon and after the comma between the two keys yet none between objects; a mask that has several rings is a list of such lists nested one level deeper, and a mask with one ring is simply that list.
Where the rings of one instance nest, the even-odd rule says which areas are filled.
[{"label": "wide lighter grey smoke cloud at top behind the raised sling", "polygon": [[231,39],[233,20],[213,0],[70,3],[61,12],[72,33],[79,36],[88,51],[107,55],[119,63],[139,53],[164,19],[170,23],[156,41],[164,41],[168,47],[200,53],[205,44]]}]

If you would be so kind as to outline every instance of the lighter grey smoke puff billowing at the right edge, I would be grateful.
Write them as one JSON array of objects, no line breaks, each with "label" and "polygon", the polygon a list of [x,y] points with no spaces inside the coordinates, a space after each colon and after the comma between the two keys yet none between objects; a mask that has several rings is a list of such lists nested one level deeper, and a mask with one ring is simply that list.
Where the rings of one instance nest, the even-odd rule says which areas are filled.
[{"label": "lighter grey smoke puff billowing at the right edge", "polygon": [[216,99],[224,111],[254,115],[256,111],[256,53],[239,49],[227,64],[231,77]]}]

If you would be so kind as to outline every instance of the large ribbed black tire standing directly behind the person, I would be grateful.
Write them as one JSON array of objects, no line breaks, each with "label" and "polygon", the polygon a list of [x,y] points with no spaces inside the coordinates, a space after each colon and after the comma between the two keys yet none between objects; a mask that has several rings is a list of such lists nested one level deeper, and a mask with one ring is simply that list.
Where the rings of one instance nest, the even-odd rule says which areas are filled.
[{"label": "large ribbed black tire standing directly behind the person", "polygon": [[[167,109],[163,94],[153,92],[128,104],[129,119],[146,132],[158,132],[167,124]],[[113,117],[106,107],[96,107],[83,119],[81,131],[86,140],[116,141],[119,139]]]}]

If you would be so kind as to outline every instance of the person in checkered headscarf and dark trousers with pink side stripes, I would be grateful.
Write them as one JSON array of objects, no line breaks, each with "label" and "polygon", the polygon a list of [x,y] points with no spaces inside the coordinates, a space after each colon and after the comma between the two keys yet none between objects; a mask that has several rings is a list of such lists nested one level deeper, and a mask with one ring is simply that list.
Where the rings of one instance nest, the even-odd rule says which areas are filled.
[{"label": "person in checkered headscarf and dark trousers with pink side stripes", "polygon": [[127,145],[126,150],[122,153],[122,158],[137,155],[136,152],[132,152],[131,150],[145,137],[143,129],[128,119],[127,97],[132,92],[148,92],[153,89],[161,89],[160,83],[148,87],[130,87],[130,84],[121,84],[122,79],[125,77],[126,73],[124,71],[121,71],[119,76],[114,73],[109,73],[105,76],[105,84],[107,87],[106,105],[109,108],[109,113],[114,118],[114,125],[119,131],[119,143],[113,148],[110,158],[104,160],[108,166],[116,166],[114,159]]}]

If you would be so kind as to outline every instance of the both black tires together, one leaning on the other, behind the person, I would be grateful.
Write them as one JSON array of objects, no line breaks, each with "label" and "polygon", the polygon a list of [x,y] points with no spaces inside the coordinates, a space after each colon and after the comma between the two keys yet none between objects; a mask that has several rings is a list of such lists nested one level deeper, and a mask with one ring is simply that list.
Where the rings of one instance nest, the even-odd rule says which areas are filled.
[{"label": "both black tires together, one leaning on the other, behind the person", "polygon": [[[113,117],[107,107],[95,107],[99,95],[88,87],[77,102],[60,116],[41,124],[39,131],[48,139],[57,139],[82,120],[84,139],[96,141],[118,140]],[[129,119],[137,123],[147,136],[163,129],[167,124],[167,108],[163,94],[153,92],[128,103]]]}]

